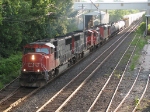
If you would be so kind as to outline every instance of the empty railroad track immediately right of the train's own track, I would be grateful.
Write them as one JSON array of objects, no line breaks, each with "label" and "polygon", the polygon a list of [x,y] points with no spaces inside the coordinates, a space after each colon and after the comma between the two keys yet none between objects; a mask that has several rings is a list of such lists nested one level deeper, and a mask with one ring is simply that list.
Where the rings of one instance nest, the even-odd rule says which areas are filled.
[{"label": "empty railroad track immediately right of the train's own track", "polygon": [[66,111],[63,109],[67,108],[67,106],[70,105],[68,104],[68,102],[72,101],[72,99],[76,96],[80,89],[83,88],[83,86],[85,86],[89,79],[95,74],[95,72],[97,72],[97,70],[103,65],[103,63],[107,61],[107,59],[114,53],[114,51],[117,50],[117,48],[122,44],[122,42],[125,41],[129,34],[130,33],[127,32],[126,34],[124,34],[124,36],[120,37],[112,46],[105,50],[90,65],[88,65],[82,72],[80,72],[73,80],[71,80],[58,93],[56,93],[43,106],[41,106],[37,110],[37,112]]}]

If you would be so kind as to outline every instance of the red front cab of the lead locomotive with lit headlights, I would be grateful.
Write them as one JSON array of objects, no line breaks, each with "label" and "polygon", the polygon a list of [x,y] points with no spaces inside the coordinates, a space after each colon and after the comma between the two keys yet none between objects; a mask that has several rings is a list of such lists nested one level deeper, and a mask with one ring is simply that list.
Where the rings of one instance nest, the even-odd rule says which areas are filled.
[{"label": "red front cab of the lead locomotive with lit headlights", "polygon": [[24,47],[21,86],[40,87],[44,85],[56,66],[55,46],[51,43],[35,42]]}]

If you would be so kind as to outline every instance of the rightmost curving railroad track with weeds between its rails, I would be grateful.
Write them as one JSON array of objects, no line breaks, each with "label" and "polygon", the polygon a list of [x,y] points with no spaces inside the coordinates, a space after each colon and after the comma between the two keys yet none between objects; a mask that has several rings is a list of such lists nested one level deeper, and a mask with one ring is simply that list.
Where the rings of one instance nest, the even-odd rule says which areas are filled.
[{"label": "rightmost curving railroad track with weeds between its rails", "polygon": [[[147,90],[148,84],[149,84],[149,77],[150,75],[147,74],[147,81],[145,82],[145,79],[143,79],[143,83],[142,83],[142,89],[143,91],[139,91],[139,93],[137,94],[137,84],[139,85],[139,83],[141,83],[141,80],[143,77],[141,76],[141,68],[139,69],[137,76],[135,77],[135,80],[133,82],[133,84],[131,85],[130,90],[123,96],[123,99],[121,99],[120,102],[118,102],[118,105],[113,105],[111,110],[113,110],[113,112],[125,112],[125,111],[131,111],[131,112],[135,112],[136,109],[138,109],[138,105],[140,104],[141,100],[144,97],[144,94]],[[140,89],[141,90],[141,89]],[[112,103],[113,104],[113,103]]]}]

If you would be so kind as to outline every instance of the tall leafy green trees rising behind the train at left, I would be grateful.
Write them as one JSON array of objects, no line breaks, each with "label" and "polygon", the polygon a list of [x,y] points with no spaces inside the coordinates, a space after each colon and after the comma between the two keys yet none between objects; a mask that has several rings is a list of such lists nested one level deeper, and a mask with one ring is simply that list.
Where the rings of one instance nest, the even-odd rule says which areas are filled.
[{"label": "tall leafy green trees rising behind the train at left", "polygon": [[[22,50],[26,43],[76,29],[71,0],[3,0],[0,2],[0,57]],[[69,26],[72,23],[72,26]]]}]

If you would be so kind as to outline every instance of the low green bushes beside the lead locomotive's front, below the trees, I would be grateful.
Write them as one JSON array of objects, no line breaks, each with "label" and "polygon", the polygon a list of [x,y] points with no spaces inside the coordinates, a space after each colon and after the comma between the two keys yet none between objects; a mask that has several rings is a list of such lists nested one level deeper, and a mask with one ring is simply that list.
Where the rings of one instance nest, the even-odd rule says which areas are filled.
[{"label": "low green bushes beside the lead locomotive's front, below the trees", "polygon": [[19,53],[0,60],[0,88],[20,75],[21,58]]}]

